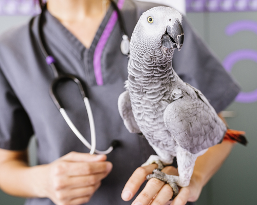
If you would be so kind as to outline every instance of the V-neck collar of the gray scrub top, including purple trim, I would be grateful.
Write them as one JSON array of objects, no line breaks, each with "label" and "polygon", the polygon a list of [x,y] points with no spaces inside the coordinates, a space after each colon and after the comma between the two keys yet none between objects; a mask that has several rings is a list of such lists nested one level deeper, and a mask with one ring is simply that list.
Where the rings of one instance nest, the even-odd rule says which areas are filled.
[{"label": "V-neck collar of the gray scrub top, including purple trim", "polygon": [[[117,6],[120,10],[122,9],[124,2],[125,0],[117,0]],[[93,42],[88,49],[86,49],[80,40],[64,27],[56,17],[52,16],[48,10],[45,11],[44,17],[46,22],[44,24],[44,29],[57,39],[58,45],[62,44],[67,49],[65,51],[67,55],[73,55],[80,61],[88,83],[90,85],[103,85],[102,54],[107,40],[118,20],[117,11],[113,6],[109,6],[96,32]]]}]

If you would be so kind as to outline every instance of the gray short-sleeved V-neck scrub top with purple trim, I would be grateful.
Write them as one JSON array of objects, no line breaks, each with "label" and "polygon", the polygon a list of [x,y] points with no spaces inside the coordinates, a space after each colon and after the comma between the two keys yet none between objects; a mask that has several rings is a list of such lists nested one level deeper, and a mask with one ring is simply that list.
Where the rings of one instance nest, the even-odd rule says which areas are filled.
[{"label": "gray short-sleeved V-neck scrub top with purple trim", "polygon": [[[131,36],[143,11],[156,4],[119,0],[125,27]],[[113,171],[88,204],[131,204],[121,199],[126,181],[154,151],[148,142],[130,134],[118,113],[118,96],[127,79],[127,56],[121,54],[120,27],[110,7],[93,43],[86,49],[48,11],[44,14],[45,43],[65,73],[84,80],[96,124],[97,149],[106,150],[113,139],[122,146],[108,154]],[[0,148],[24,150],[34,133],[38,163],[50,163],[71,152],[89,152],[70,130],[49,96],[53,73],[39,50],[36,38],[39,16],[0,38]],[[187,83],[200,89],[217,112],[228,106],[239,92],[231,76],[183,19],[185,42],[173,57],[173,66]],[[102,84],[102,85],[101,85]],[[68,82],[58,88],[71,120],[90,141],[85,105],[77,85]],[[28,199],[26,204],[50,205],[48,198]]]}]

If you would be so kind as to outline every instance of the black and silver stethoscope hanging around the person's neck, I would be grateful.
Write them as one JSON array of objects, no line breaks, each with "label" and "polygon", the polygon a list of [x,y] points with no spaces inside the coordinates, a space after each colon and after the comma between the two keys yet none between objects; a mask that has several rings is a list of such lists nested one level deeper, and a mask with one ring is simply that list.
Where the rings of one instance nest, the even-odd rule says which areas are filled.
[{"label": "black and silver stethoscope hanging around the person's neck", "polygon": [[[121,48],[121,52],[126,55],[130,52],[129,47],[130,47],[130,40],[128,38],[127,32],[124,28],[124,23],[123,23],[123,18],[122,15],[120,13],[119,8],[117,7],[116,3],[113,0],[110,0],[112,3],[112,6],[114,7],[114,9],[117,11],[118,13],[118,20],[119,20],[119,25],[120,25],[120,30],[122,33],[122,42],[120,45]],[[53,75],[54,75],[54,79],[51,82],[50,85],[50,89],[49,89],[49,94],[50,97],[53,100],[53,103],[56,105],[57,109],[60,111],[60,113],[62,114],[64,120],[67,122],[68,126],[70,127],[70,129],[75,133],[75,135],[82,141],[82,143],[90,150],[90,154],[109,154],[111,153],[116,147],[118,147],[120,145],[120,142],[118,140],[113,140],[111,146],[105,150],[105,151],[99,151],[96,149],[96,129],[95,129],[95,122],[94,122],[94,117],[93,117],[93,113],[89,104],[89,100],[88,100],[88,95],[85,89],[85,85],[83,83],[83,81],[81,79],[79,79],[79,77],[72,75],[72,74],[66,74],[66,73],[62,73],[60,70],[57,69],[57,67],[54,65],[55,60],[54,58],[49,55],[46,51],[46,47],[44,46],[44,41],[43,41],[43,32],[42,32],[42,16],[43,16],[43,12],[46,10],[46,5],[42,8],[42,13],[40,14],[40,22],[39,22],[39,38],[38,43],[39,43],[39,47],[40,50],[42,51],[45,59],[46,59],[46,63],[49,65],[49,67],[52,69]],[[79,130],[76,128],[76,126],[73,124],[73,122],[71,121],[71,119],[69,118],[69,116],[67,115],[65,109],[63,108],[62,102],[57,94],[57,87],[59,84],[61,84],[64,81],[68,81],[68,80],[72,80],[74,81],[80,90],[80,94],[84,100],[84,104],[86,106],[86,110],[87,110],[87,115],[88,115],[88,119],[89,119],[89,127],[90,127],[90,134],[91,134],[91,145],[89,144],[89,142],[83,137],[83,135],[79,132]]]}]

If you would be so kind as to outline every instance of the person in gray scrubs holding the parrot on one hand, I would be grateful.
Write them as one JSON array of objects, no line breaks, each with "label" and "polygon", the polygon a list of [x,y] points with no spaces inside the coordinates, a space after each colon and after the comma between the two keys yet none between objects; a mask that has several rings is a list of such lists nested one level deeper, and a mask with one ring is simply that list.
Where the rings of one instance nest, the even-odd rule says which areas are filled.
[{"label": "person in gray scrubs holding the parrot on one hand", "polygon": [[[131,0],[116,3],[130,36],[142,12],[159,6]],[[103,12],[102,4],[101,0],[49,0],[41,26],[56,66],[79,76],[87,87],[97,149],[106,150],[114,139],[121,143],[107,159],[87,154],[89,150],[50,98],[54,76],[39,49],[39,16],[0,38],[0,187],[11,195],[27,197],[26,205],[125,205],[133,200],[133,204],[146,205],[157,192],[158,204],[164,205],[172,197],[171,189],[157,179],[149,180],[135,197],[155,165],[138,167],[154,151],[143,137],[130,134],[119,116],[117,100],[124,91],[128,58],[120,51],[122,37],[115,10],[107,2],[108,9]],[[173,67],[221,112],[239,88],[186,18],[183,29],[185,42],[182,50],[174,53]],[[90,141],[89,121],[77,85],[69,81],[59,86],[57,93],[68,116]],[[33,134],[38,166],[28,167],[26,150]],[[195,201],[231,148],[229,142],[223,142],[199,157],[190,186],[180,190],[174,205]],[[171,166],[164,169],[176,172]]]}]

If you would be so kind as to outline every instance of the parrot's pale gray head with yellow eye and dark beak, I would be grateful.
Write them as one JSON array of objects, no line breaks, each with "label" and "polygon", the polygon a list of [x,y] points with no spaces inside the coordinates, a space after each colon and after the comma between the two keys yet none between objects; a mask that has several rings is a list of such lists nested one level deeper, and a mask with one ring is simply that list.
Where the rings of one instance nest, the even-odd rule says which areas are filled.
[{"label": "parrot's pale gray head with yellow eye and dark beak", "polygon": [[181,14],[170,7],[154,7],[144,12],[131,37],[131,51],[155,53],[172,52],[183,45],[184,33]]}]

